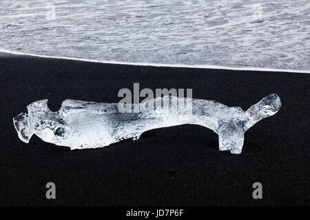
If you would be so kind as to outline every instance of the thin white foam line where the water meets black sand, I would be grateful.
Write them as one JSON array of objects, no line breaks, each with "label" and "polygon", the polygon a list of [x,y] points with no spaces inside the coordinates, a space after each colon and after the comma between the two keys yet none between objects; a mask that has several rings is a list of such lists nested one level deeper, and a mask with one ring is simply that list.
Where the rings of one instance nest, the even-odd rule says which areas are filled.
[{"label": "thin white foam line where the water meets black sand", "polygon": [[85,58],[73,58],[65,56],[46,56],[38,54],[28,54],[23,52],[12,52],[10,50],[1,50],[1,53],[6,54],[17,54],[25,56],[37,56],[43,58],[56,58],[56,59],[65,59],[73,61],[86,61],[92,63],[107,63],[107,64],[121,64],[121,65],[136,65],[136,66],[151,66],[151,67],[185,67],[185,68],[198,68],[198,69],[231,69],[231,70],[245,70],[245,71],[262,71],[262,72],[291,72],[291,73],[300,73],[300,74],[310,74],[310,70],[301,70],[301,69],[273,69],[273,68],[261,68],[261,67],[225,67],[218,65],[187,65],[187,64],[165,64],[165,63],[131,63],[131,62],[118,62],[118,61],[96,61],[92,59]]}]

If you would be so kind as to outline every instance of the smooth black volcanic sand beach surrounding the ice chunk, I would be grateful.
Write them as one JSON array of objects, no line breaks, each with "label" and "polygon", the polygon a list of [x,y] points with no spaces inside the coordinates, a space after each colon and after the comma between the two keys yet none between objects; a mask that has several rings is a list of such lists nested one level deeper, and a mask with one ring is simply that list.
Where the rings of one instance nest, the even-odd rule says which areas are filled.
[{"label": "smooth black volcanic sand beach surrounding the ice chunk", "polygon": [[[309,205],[309,74],[88,63],[2,54],[0,205]],[[118,102],[118,90],[192,88],[194,98],[247,109],[276,93],[282,109],[245,134],[242,154],[218,151],[216,133],[183,125],[140,140],[70,151],[36,135],[19,140],[12,118],[48,98]],[[45,199],[45,184],[56,199]],[[262,199],[252,185],[262,183]]]}]

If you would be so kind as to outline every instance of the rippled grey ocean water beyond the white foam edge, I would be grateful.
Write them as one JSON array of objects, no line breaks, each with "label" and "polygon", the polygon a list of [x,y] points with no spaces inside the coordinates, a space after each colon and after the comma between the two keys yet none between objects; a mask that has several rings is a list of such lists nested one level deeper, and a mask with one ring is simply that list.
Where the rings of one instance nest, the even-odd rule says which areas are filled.
[{"label": "rippled grey ocean water beyond the white foam edge", "polygon": [[310,1],[0,1],[0,49],[310,70]]}]

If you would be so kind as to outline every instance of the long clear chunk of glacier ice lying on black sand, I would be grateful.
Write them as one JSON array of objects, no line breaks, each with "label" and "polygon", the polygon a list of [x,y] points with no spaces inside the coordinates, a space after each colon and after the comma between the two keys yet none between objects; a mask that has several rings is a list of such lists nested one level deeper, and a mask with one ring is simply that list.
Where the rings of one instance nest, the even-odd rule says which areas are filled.
[{"label": "long clear chunk of glacier ice lying on black sand", "polygon": [[[148,104],[154,107],[142,108]],[[128,138],[137,140],[151,129],[199,124],[218,133],[220,151],[238,154],[242,151],[245,131],[259,120],[274,115],[281,101],[278,95],[271,94],[247,111],[211,100],[174,96],[130,104],[132,110],[143,109],[133,113],[121,113],[118,105],[65,100],[59,111],[52,112],[48,109],[48,100],[39,100],[29,104],[28,113],[17,115],[13,122],[23,142],[28,143],[35,133],[45,142],[71,149],[99,148]]]}]

